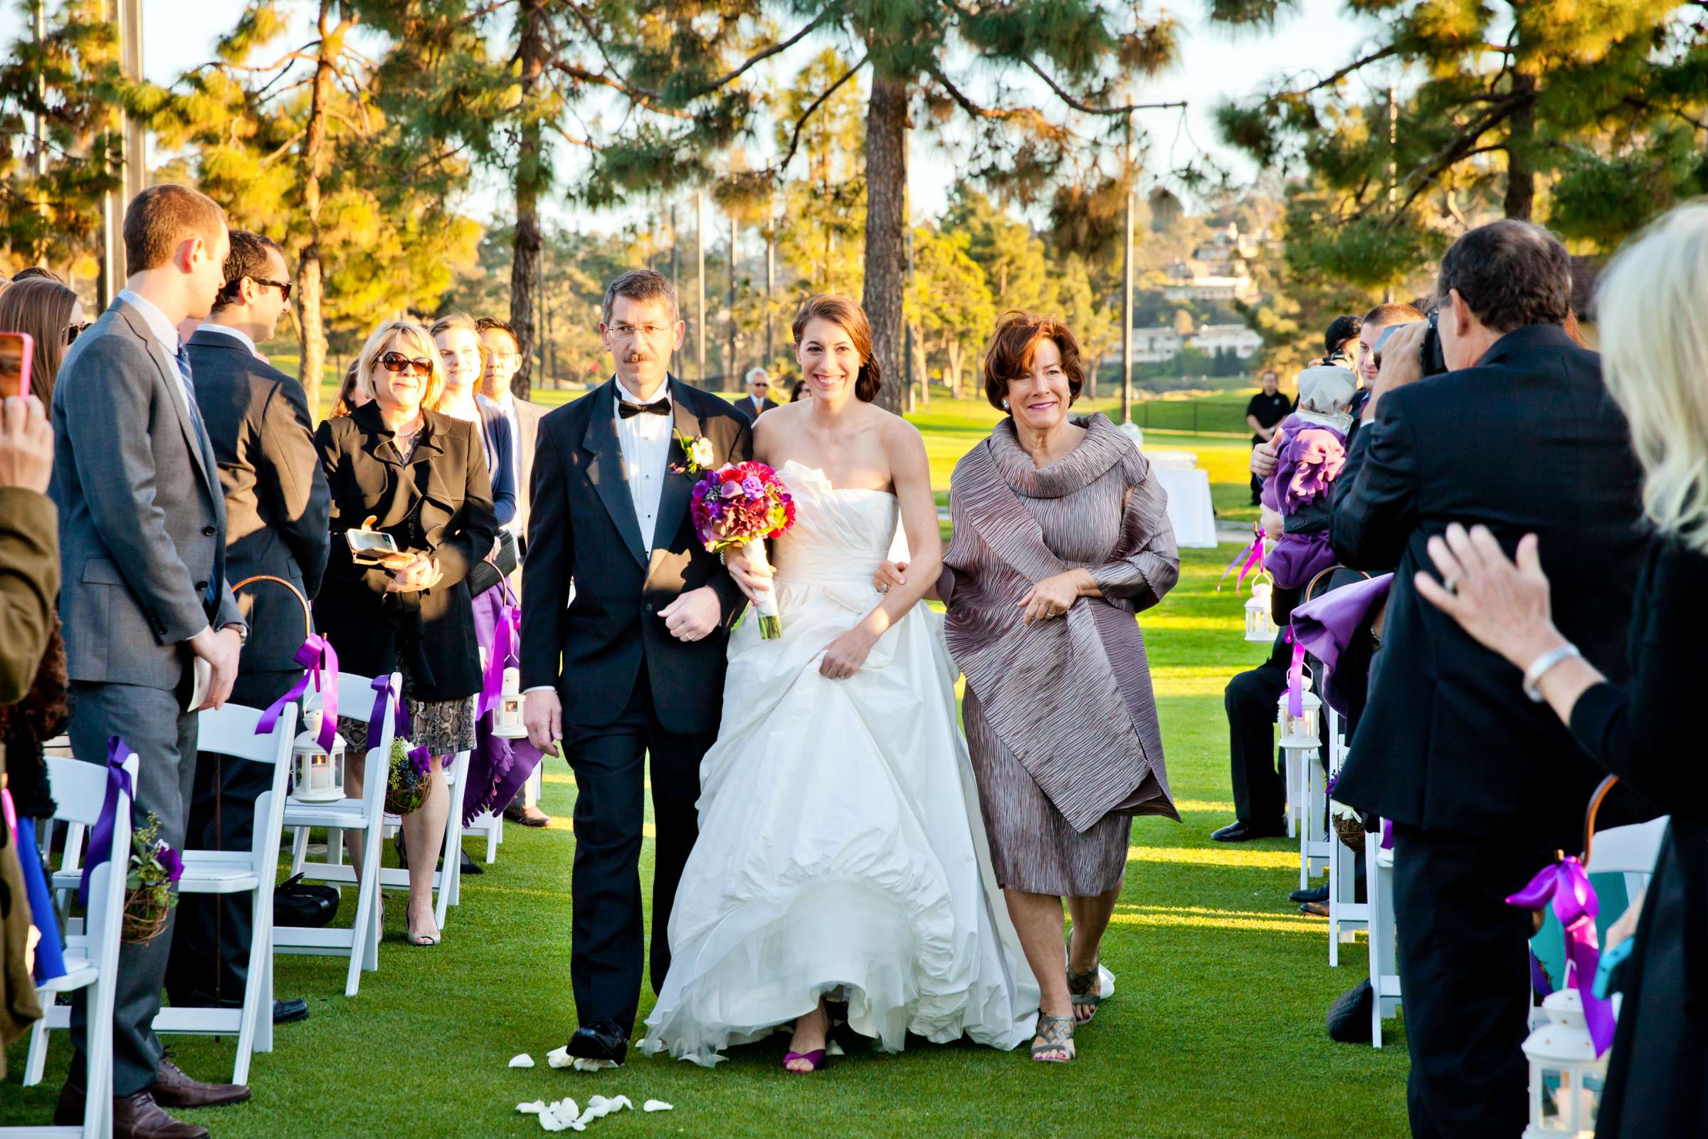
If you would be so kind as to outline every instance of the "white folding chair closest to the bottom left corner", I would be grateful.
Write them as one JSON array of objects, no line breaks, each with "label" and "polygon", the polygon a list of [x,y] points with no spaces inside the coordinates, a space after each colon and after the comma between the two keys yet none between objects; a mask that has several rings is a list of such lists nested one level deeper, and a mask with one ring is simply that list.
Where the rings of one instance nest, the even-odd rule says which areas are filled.
[{"label": "white folding chair closest to the bottom left corner", "polygon": [[[140,763],[125,756],[130,786],[137,786]],[[53,818],[92,828],[106,801],[108,774],[104,763],[84,763],[63,756],[48,756],[48,784],[58,809]],[[0,823],[3,827],[3,823]],[[113,816],[113,845],[108,861],[89,874],[89,908],[82,922],[84,932],[68,936],[65,944],[65,975],[39,985],[44,1016],[29,1035],[29,1055],[24,1060],[24,1086],[41,1083],[48,1062],[48,1030],[70,1028],[72,1009],[56,1004],[61,992],[84,989],[89,1038],[84,1072],[84,1124],[82,1127],[0,1127],[0,1136],[10,1139],[34,1137],[108,1139],[113,1134],[113,984],[118,977],[120,927],[125,912],[125,873],[130,866],[130,796],[120,792]],[[75,886],[73,886],[75,888]],[[46,920],[53,920],[51,915]]]}]

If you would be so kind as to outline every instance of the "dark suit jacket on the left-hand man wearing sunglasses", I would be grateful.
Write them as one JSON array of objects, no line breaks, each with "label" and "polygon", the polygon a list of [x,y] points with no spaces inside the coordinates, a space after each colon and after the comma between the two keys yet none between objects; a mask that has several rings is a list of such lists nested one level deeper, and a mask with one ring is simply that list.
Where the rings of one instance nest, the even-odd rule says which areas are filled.
[{"label": "dark suit jacket on the left-hand man wearing sunglasses", "polygon": [[[302,384],[207,326],[186,347],[225,492],[225,579],[270,574],[313,599],[326,570],[331,495]],[[237,605],[249,622],[239,671],[297,669],[306,632],[297,599],[256,582],[237,593]]]}]

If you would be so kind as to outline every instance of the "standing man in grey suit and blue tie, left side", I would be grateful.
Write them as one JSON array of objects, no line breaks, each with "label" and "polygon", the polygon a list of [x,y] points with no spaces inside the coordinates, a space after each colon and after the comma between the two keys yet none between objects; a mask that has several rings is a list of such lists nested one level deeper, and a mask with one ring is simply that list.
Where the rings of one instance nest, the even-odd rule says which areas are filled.
[{"label": "standing man in grey suit and blue tie, left side", "polygon": [[[72,748],[104,763],[120,736],[142,760],[135,811],[183,847],[196,755],[196,709],[231,697],[248,635],[225,584],[225,502],[202,425],[184,318],[203,318],[225,282],[225,213],[183,186],[152,186],[125,212],[126,289],[65,353],[53,391],[53,500],[60,507]],[[191,664],[207,668],[196,709]],[[191,1081],[154,1035],[171,920],[159,937],[120,948],[113,1009],[113,1134],[198,1139],[171,1107],[249,1096]],[[84,1006],[72,1011],[77,1057],[56,1124],[84,1113]]]}]

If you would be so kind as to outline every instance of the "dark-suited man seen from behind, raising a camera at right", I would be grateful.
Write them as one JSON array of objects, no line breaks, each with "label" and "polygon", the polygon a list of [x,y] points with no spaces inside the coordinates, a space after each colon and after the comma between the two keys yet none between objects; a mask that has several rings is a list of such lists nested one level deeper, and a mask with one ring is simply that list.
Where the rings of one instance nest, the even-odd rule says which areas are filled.
[{"label": "dark-suited man seen from behind, raising a camera at right", "polygon": [[1571,270],[1547,231],[1471,231],[1442,258],[1438,295],[1450,371],[1377,393],[1334,507],[1346,565],[1399,565],[1336,797],[1394,821],[1413,1136],[1506,1137],[1527,1119],[1530,915],[1503,898],[1578,849],[1599,772],[1413,577],[1450,523],[1483,523],[1508,553],[1539,534],[1561,632],[1619,681],[1640,473],[1600,357],[1561,328]]}]

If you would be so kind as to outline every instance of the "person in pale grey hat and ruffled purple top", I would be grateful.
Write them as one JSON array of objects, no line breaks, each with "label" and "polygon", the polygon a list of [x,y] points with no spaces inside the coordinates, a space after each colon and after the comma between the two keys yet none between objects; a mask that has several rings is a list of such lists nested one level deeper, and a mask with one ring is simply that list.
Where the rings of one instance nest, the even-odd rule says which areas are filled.
[{"label": "person in pale grey hat and ruffled purple top", "polygon": [[1331,364],[1298,374],[1298,410],[1281,423],[1276,473],[1264,480],[1264,531],[1276,545],[1269,572],[1276,586],[1303,589],[1334,565],[1329,499],[1346,464],[1358,377]]}]

